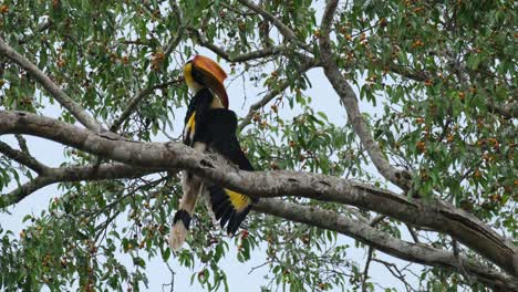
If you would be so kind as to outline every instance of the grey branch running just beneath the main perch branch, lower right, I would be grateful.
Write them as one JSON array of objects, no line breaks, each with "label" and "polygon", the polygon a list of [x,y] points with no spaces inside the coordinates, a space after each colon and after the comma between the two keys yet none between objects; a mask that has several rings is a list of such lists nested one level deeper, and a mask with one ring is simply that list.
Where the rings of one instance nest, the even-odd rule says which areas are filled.
[{"label": "grey branch running just beneath the main perch branch, lower right", "polygon": [[[300,206],[279,199],[262,199],[253,209],[297,222],[338,231],[403,260],[458,271],[458,260],[452,252],[396,239],[366,223],[332,211]],[[475,275],[479,282],[501,291],[518,290],[517,278],[495,272],[494,269],[484,267],[467,258],[463,258],[463,262],[466,271]]]}]

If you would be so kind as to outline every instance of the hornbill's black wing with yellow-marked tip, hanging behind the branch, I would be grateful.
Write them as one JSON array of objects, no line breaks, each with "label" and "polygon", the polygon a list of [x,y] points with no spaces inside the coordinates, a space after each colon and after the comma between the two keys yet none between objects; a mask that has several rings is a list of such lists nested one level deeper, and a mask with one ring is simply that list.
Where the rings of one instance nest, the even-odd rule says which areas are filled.
[{"label": "hornbill's black wing with yellow-marked tip, hanging behind the branch", "polygon": [[[229,109],[215,108],[207,113],[206,118],[207,133],[210,135],[208,148],[222,155],[239,169],[252,171],[253,167],[236,137],[236,114]],[[211,186],[208,190],[216,219],[220,220],[221,228],[227,226],[227,233],[234,234],[257,199],[219,186]]]}]

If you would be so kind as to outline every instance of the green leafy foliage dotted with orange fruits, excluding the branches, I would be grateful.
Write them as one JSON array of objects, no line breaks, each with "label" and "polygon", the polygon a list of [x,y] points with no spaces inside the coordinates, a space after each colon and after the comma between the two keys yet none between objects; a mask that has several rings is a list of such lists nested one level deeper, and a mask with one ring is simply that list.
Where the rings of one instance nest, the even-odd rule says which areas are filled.
[{"label": "green leafy foliage dotted with orange fruits, excluding the branches", "polygon": [[[300,71],[304,55],[320,54],[321,3],[261,2],[293,30],[299,44],[283,42],[270,21],[240,2],[218,0],[4,0],[0,34],[103,124],[112,125],[134,96],[149,91],[118,129],[143,142],[175,139],[180,133],[177,121],[189,98],[180,69],[200,45],[224,50],[227,55],[219,55],[228,60],[270,50],[230,62],[231,79],[242,76],[248,85],[280,91],[271,104],[252,113],[251,125],[240,133],[252,164],[385,185],[369,167],[372,161],[351,126],[312,109],[317,98],[333,97],[305,93],[317,86]],[[382,108],[365,114],[375,140],[393,165],[415,174],[413,194],[452,201],[515,239],[516,11],[509,1],[348,1],[332,29],[342,73],[363,102]],[[1,108],[46,114],[49,101],[54,103],[27,72],[0,55]],[[297,114],[290,117],[292,112]],[[59,115],[75,122],[66,111]],[[64,155],[64,165],[97,159],[75,149]],[[7,156],[0,155],[0,190],[31,177]],[[204,206],[197,207],[189,248],[173,255],[165,234],[177,208],[178,182],[176,174],[162,174],[60,184],[60,196],[41,215],[28,215],[28,227],[19,234],[0,223],[0,288],[138,291],[147,284],[149,259],[175,257],[189,268],[203,263],[191,281],[208,291],[228,290],[221,259],[248,261],[259,247],[266,249],[271,280],[265,291],[354,290],[365,281],[362,265],[348,260],[351,247],[342,236],[253,213],[248,229],[227,240]],[[335,204],[287,200],[351,216]],[[395,220],[379,228],[401,237],[402,225]],[[441,237],[422,240],[448,250],[453,244]],[[227,254],[230,244],[237,254]],[[121,253],[132,262],[123,263]],[[431,291],[484,290],[455,272],[419,272],[422,288]],[[374,290],[369,280],[363,285]]]}]

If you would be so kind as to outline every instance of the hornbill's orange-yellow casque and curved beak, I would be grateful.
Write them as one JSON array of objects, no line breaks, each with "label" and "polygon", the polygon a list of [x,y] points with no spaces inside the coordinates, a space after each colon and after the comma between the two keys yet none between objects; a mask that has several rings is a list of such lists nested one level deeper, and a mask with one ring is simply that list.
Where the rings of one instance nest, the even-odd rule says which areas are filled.
[{"label": "hornbill's orange-yellow casque and curved beak", "polygon": [[208,87],[219,97],[221,105],[228,108],[228,95],[224,85],[227,73],[218,63],[207,56],[196,55],[185,65],[184,74],[191,90]]}]

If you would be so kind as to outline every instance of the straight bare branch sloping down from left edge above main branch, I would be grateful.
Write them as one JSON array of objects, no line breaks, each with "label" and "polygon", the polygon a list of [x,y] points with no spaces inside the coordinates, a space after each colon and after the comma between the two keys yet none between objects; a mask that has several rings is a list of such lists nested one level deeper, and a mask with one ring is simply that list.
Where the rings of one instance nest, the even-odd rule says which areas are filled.
[{"label": "straight bare branch sloping down from left edge above main branch", "polygon": [[75,103],[54,82],[52,82],[31,61],[15,52],[0,38],[0,53],[29,72],[63,107],[65,107],[83,126],[91,131],[101,131],[102,126],[80,104]]}]

